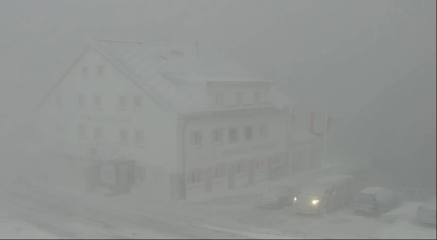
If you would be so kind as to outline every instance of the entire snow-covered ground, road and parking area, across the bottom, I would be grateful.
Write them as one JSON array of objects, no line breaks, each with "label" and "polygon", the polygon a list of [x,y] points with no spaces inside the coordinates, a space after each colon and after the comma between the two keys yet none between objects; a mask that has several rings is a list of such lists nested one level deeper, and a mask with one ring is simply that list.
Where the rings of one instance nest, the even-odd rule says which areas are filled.
[{"label": "entire snow-covered ground, road and parking area, across the bottom", "polygon": [[13,236],[23,236],[25,228],[32,236],[62,239],[436,239],[435,226],[412,222],[418,203],[404,203],[380,218],[358,216],[347,207],[318,217],[294,214],[290,207],[260,209],[253,194],[163,207],[130,202],[138,199],[127,195],[85,201],[90,197],[36,186],[1,192],[8,198],[1,197],[0,206],[9,208],[0,211],[1,218],[16,221],[7,224],[9,235],[21,228]]}]

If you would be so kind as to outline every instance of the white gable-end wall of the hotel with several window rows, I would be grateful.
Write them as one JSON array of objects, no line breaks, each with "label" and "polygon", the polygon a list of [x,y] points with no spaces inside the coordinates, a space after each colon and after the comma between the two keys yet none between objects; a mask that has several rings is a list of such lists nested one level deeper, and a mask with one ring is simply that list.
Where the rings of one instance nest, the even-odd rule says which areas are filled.
[{"label": "white gable-end wall of the hotel with several window rows", "polygon": [[[97,76],[97,66],[104,66],[104,76]],[[84,78],[82,69],[88,67],[88,77]],[[85,107],[78,107],[78,95],[84,94]],[[100,94],[102,109],[94,107],[93,97]],[[86,124],[86,140],[94,139],[94,127],[102,127],[103,142],[111,144],[119,154],[132,157],[139,163],[165,166],[173,171],[176,161],[176,114],[156,103],[144,91],[135,86],[129,79],[106,61],[98,52],[87,51],[82,59],[70,70],[62,84],[45,103],[42,110],[50,116],[56,112],[55,96],[62,96],[64,116],[67,116],[66,139],[73,144],[83,144],[78,136],[78,125]],[[127,109],[118,109],[120,95],[127,96]],[[134,95],[142,96],[142,108],[134,110]],[[84,117],[84,116],[87,117]],[[88,116],[91,120],[88,119]],[[124,118],[130,122],[112,122],[107,119]],[[129,131],[129,143],[119,145],[119,130]],[[134,130],[142,129],[145,136],[144,148],[134,143]]]}]

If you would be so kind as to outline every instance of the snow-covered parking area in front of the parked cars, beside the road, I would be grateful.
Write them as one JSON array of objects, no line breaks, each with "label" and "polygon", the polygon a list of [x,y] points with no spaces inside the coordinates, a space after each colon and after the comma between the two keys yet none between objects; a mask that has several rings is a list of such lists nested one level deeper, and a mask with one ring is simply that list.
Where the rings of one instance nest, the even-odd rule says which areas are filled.
[{"label": "snow-covered parking area in front of the parked cars, beside the road", "polygon": [[[226,201],[229,199],[229,201]],[[436,239],[436,227],[415,223],[413,218],[420,203],[404,202],[402,206],[379,218],[360,216],[345,206],[324,216],[295,214],[291,207],[263,209],[255,206],[255,195],[220,198],[202,202],[208,216],[217,223],[235,223],[253,228],[274,229],[283,235],[322,239]],[[200,211],[200,210],[199,210]],[[212,212],[214,211],[214,212]],[[223,219],[228,219],[224,222]],[[235,223],[232,223],[232,221]]]}]

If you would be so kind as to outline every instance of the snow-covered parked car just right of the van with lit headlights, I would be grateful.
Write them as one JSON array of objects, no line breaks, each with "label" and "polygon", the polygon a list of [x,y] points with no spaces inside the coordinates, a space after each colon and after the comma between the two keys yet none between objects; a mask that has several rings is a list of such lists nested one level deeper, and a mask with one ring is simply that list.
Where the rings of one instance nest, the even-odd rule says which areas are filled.
[{"label": "snow-covered parked car just right of the van with lit headlights", "polygon": [[390,189],[369,187],[356,194],[352,208],[356,212],[378,215],[395,208],[400,202],[400,195]]}]

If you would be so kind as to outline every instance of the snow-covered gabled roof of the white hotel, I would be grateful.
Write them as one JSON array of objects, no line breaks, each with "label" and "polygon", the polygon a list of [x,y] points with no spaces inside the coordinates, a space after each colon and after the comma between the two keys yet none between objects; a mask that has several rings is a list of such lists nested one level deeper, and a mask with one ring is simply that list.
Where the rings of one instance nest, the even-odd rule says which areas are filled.
[{"label": "snow-covered gabled roof of the white hotel", "polygon": [[[229,64],[232,61],[206,61],[198,57],[195,44],[91,40],[89,46],[126,75],[134,85],[179,114],[209,110],[204,99],[206,84],[272,83],[241,76],[244,70]],[[281,93],[273,96],[281,98],[276,101],[278,103],[284,103],[284,99],[287,99]],[[293,103],[289,99],[286,101],[286,104]]]}]

